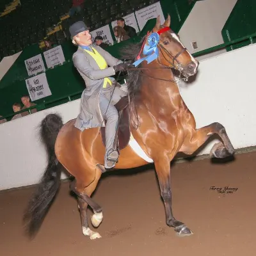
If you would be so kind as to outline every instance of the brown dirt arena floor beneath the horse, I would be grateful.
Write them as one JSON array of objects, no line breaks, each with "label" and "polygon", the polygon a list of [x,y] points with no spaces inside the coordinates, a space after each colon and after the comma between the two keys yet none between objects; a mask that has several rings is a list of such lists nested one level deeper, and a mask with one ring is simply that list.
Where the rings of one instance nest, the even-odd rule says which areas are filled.
[{"label": "brown dirt arena floor beneath the horse", "polygon": [[[189,237],[177,237],[173,228],[166,226],[152,165],[132,175],[104,175],[93,195],[104,209],[103,222],[97,228],[102,238],[93,241],[83,236],[77,202],[70,196],[68,182],[61,185],[33,241],[24,236],[21,218],[35,188],[2,191],[0,254],[254,256],[255,167],[256,152],[237,154],[234,161],[225,164],[204,159],[172,166],[173,212],[194,232]],[[88,210],[89,216],[91,213]]]}]

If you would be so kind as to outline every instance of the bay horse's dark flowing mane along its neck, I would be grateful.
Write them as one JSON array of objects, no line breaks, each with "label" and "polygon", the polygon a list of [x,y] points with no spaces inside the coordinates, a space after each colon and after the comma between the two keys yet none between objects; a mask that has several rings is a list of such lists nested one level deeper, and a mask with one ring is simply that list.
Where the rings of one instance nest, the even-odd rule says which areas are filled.
[{"label": "bay horse's dark flowing mane along its neck", "polygon": [[[141,38],[141,41],[137,44],[127,44],[122,49],[120,49],[120,54],[122,56],[122,59],[125,59],[126,61],[136,61],[136,58],[141,51],[141,47],[143,45],[143,42],[145,40],[145,36]],[[140,67],[138,65],[137,67]],[[140,76],[141,75],[141,70],[134,68],[134,70],[127,70],[127,86],[128,86],[128,92],[129,92],[129,102],[130,102],[130,118],[134,118],[136,116],[136,127],[138,127],[139,122],[138,122],[138,115],[136,111],[136,105],[139,102],[140,99],[140,88],[141,88],[141,83],[142,79]],[[131,112],[133,114],[131,116]],[[135,122],[135,120],[133,120]]]}]

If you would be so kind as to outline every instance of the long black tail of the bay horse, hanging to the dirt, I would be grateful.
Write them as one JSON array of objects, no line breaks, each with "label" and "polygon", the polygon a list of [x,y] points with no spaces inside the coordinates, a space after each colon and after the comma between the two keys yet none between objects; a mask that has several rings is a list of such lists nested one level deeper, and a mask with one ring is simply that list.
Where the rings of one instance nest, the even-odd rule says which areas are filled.
[{"label": "long black tail of the bay horse, hanging to the dirt", "polygon": [[56,157],[54,145],[62,125],[61,117],[56,114],[45,116],[40,124],[40,138],[48,153],[48,164],[24,213],[23,220],[28,223],[26,232],[30,237],[35,236],[38,232],[54,196],[60,188],[60,176],[63,166]]}]

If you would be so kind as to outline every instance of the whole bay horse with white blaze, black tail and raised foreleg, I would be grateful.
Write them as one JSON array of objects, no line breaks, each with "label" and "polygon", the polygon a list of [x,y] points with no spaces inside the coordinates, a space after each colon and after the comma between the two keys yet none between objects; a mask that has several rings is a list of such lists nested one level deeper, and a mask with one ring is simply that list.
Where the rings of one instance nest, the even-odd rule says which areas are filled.
[{"label": "whole bay horse with white blaze, black tail and raised foreleg", "polygon": [[[125,58],[136,61],[145,57],[141,49],[148,46],[150,42],[147,39],[152,33],[159,35],[157,58],[149,63],[142,61],[138,67],[127,70],[129,100],[125,108],[120,108],[120,113],[127,113],[129,109],[129,121],[126,123],[128,129],[126,127],[123,134],[129,134],[128,139],[131,134],[148,159],[154,162],[164,201],[166,225],[173,227],[179,236],[189,236],[193,232],[173,216],[170,162],[178,152],[193,154],[212,134],[218,134],[221,140],[212,147],[211,157],[232,156],[234,147],[225,127],[218,122],[196,129],[195,118],[180,96],[172,69],[179,70],[180,76],[182,74],[187,80],[196,74],[199,63],[170,28],[170,15],[163,25],[157,17],[156,25],[140,43],[124,48]],[[124,117],[122,120],[125,124]],[[81,132],[74,127],[74,122],[75,119],[63,124],[58,114],[49,114],[40,124],[48,165],[24,213],[24,221],[28,222],[26,230],[31,237],[42,225],[60,187],[61,171],[65,169],[74,177],[70,189],[77,195],[84,236],[90,239],[101,237],[88,227],[86,212],[90,205],[94,212],[92,225],[99,227],[103,218],[102,208],[91,195],[104,172],[104,130],[95,127]],[[118,141],[121,144],[122,141]],[[120,157],[115,166],[118,170],[136,168],[150,162],[139,156],[130,144],[123,143],[119,150]]]}]

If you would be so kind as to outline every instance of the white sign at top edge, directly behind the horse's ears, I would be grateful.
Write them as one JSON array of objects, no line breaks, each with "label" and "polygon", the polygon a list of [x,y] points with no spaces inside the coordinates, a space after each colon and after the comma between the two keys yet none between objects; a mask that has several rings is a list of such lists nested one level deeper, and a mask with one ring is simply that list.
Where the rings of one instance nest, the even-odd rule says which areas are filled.
[{"label": "white sign at top edge, directly behind the horse's ears", "polygon": [[135,15],[138,20],[140,30],[143,29],[148,20],[157,18],[158,15],[160,15],[161,24],[165,21],[160,2],[151,4],[150,6],[136,11]]}]

